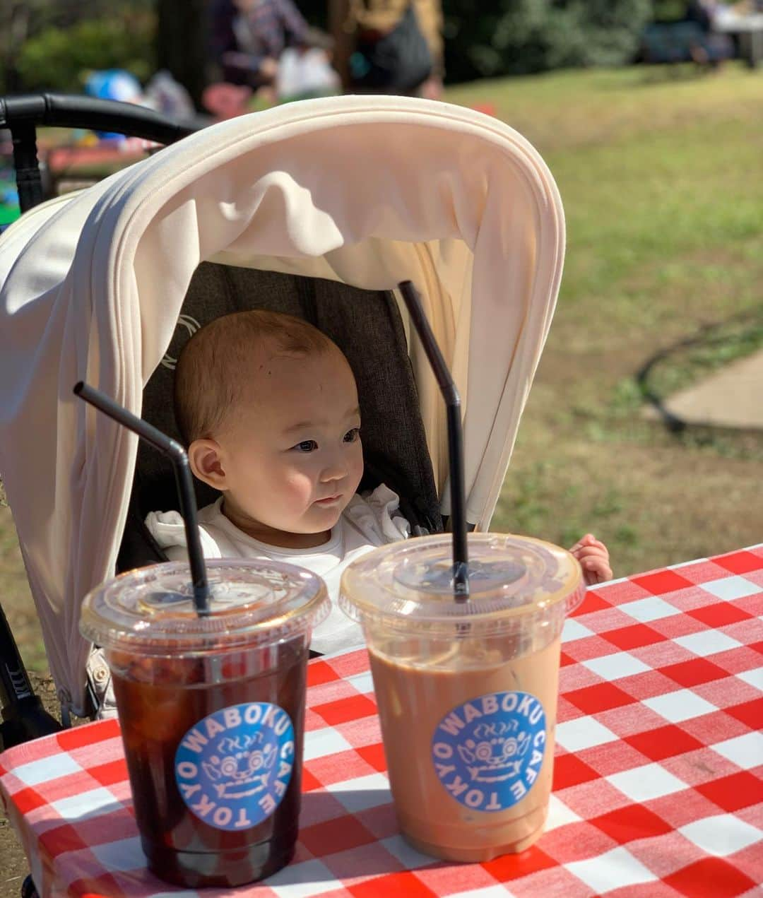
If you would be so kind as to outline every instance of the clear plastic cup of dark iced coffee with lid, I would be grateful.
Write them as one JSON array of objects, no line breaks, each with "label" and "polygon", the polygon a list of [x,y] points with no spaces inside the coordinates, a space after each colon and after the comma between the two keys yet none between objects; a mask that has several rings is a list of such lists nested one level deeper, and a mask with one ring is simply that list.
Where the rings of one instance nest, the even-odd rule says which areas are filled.
[{"label": "clear plastic cup of dark iced coffee with lid", "polygon": [[190,888],[243,885],[292,858],[308,647],[329,612],[302,568],[207,567],[206,617],[188,565],[168,563],[93,590],[80,622],[110,666],[148,867]]}]

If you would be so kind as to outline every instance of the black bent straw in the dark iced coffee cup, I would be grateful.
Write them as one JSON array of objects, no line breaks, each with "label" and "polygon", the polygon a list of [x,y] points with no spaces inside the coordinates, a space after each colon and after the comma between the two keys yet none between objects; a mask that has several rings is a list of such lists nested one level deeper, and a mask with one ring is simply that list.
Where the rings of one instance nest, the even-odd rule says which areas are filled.
[{"label": "black bent straw in the dark iced coffee cup", "polygon": [[161,430],[157,430],[156,427],[148,424],[142,418],[137,418],[136,415],[122,408],[105,393],[88,386],[87,383],[83,383],[83,381],[75,383],[75,396],[79,396],[84,401],[89,402],[96,409],[102,411],[104,415],[108,415],[117,421],[118,424],[121,424],[122,427],[132,430],[133,433],[144,439],[146,443],[153,445],[154,448],[166,455],[172,462],[173,470],[175,471],[175,481],[178,485],[178,496],[180,497],[180,514],[183,516],[183,522],[186,526],[186,539],[189,544],[193,601],[198,616],[206,616],[209,613],[209,585],[206,582],[206,565],[201,551],[201,539],[198,535],[196,499],[193,494],[193,481],[191,480],[188,453],[177,440],[162,434]]}]

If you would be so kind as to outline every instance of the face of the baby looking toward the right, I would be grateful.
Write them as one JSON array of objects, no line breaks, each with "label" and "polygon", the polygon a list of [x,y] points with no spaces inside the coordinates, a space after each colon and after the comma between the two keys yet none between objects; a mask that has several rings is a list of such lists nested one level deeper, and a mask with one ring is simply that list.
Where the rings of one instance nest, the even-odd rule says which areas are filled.
[{"label": "face of the baby looking toward the right", "polygon": [[355,377],[338,351],[263,349],[253,369],[251,401],[218,438],[226,514],[261,541],[289,545],[290,533],[337,524],[363,475]]}]

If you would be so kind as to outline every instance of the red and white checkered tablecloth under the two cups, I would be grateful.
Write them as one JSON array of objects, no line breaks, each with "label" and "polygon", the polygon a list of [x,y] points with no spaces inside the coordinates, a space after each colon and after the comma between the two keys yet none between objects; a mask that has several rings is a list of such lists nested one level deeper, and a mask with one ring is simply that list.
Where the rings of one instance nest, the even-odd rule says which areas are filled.
[{"label": "red and white checkered tablecloth under the two cups", "polygon": [[[225,894],[763,895],[763,546],[589,591],[564,639],[554,792],[531,850],[454,865],[408,847],[355,651],[310,665],[294,861]],[[0,755],[0,794],[45,895],[197,894],[145,869],[115,722]]]}]

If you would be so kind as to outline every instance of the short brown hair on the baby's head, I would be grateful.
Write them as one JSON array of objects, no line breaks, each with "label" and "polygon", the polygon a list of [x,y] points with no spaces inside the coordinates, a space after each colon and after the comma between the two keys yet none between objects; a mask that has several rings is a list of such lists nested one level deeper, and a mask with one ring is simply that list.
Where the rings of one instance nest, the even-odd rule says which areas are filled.
[{"label": "short brown hair on the baby's head", "polygon": [[175,419],[185,445],[220,432],[227,415],[244,401],[252,358],[265,342],[296,356],[338,349],[294,315],[257,309],[209,321],[182,348],[175,368]]}]

